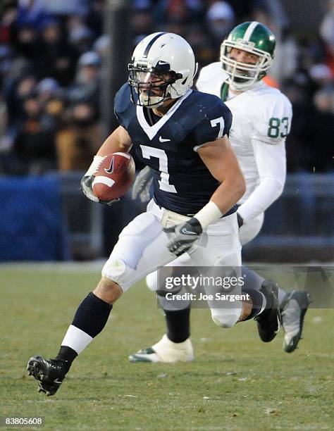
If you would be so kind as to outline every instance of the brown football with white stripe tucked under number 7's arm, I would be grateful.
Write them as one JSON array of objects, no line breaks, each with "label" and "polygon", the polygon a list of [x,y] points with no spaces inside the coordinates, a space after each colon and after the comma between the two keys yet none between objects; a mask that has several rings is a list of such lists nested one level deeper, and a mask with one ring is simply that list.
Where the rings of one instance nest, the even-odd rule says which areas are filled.
[{"label": "brown football with white stripe tucked under number 7's arm", "polygon": [[135,161],[127,153],[105,156],[94,173],[92,189],[101,201],[112,201],[123,196],[135,177]]}]

